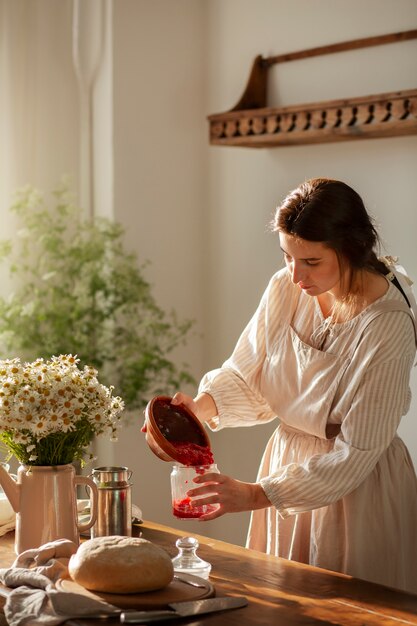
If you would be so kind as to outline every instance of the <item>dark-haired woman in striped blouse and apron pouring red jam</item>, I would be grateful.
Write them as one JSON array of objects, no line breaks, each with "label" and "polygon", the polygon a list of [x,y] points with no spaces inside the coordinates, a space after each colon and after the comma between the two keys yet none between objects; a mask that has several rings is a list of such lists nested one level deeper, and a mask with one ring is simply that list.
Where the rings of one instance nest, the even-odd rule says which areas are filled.
[{"label": "dark-haired woman in striped blouse and apron pouring red jam", "polygon": [[205,475],[215,487],[188,493],[220,504],[206,520],[253,511],[248,547],[417,592],[417,480],[396,434],[416,352],[408,283],[377,259],[345,183],[303,183],[273,228],[286,267],[232,356],[173,401],[216,430],[279,425],[256,483]]}]

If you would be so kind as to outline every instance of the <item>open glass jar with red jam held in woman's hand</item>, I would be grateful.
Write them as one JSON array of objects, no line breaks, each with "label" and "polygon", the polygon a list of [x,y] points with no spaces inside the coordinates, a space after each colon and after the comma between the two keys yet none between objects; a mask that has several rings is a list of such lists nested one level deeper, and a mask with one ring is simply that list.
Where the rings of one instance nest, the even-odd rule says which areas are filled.
[{"label": "open glass jar with red jam held in woman's hand", "polygon": [[199,505],[199,498],[190,498],[187,495],[190,489],[203,484],[194,483],[193,478],[195,476],[213,472],[220,474],[216,463],[211,465],[174,465],[171,472],[172,513],[174,517],[196,519],[219,508],[219,504]]}]

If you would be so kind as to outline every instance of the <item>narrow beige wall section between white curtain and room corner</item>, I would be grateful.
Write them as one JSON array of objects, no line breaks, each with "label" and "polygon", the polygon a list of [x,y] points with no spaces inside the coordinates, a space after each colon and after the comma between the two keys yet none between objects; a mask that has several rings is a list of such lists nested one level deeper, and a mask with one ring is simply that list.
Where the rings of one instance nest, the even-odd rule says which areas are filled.
[{"label": "narrow beige wall section between white curtain and room corner", "polygon": [[[141,260],[158,301],[196,320],[179,361],[204,371],[208,209],[205,166],[205,23],[195,0],[122,0],[113,5],[114,215]],[[190,390],[191,391],[191,390]],[[143,415],[120,434],[115,461],[132,468],[134,500],[144,517],[172,523],[171,465],[140,433]]]}]

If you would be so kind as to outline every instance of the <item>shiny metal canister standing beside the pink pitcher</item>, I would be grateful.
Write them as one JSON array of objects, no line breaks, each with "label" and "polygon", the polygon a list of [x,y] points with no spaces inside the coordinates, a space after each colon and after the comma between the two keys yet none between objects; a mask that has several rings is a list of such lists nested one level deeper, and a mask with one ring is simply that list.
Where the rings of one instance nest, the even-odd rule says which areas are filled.
[{"label": "shiny metal canister standing beside the pink pitcher", "polygon": [[90,478],[98,489],[97,521],[91,537],[132,535],[132,472],[127,467],[96,467]]}]

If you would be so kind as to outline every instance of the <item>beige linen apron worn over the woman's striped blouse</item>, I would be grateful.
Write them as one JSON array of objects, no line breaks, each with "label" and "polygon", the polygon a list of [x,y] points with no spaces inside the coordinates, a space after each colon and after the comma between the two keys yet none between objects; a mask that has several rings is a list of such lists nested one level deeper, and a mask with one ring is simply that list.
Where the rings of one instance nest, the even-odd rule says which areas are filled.
[{"label": "beige linen apron worn over the woman's striped blouse", "polygon": [[[371,305],[352,330],[351,344],[343,355],[309,346],[289,324],[282,328],[274,350],[267,357],[262,383],[264,397],[276,412],[280,425],[267,445],[258,480],[287,464],[301,464],[314,454],[326,454],[332,450],[332,437],[340,431],[340,418],[332,415],[340,382],[367,326],[379,315],[390,311],[403,311],[410,315],[414,323],[409,307],[401,301],[387,300]],[[395,438],[390,448],[393,452],[388,455],[388,459],[379,462],[382,470],[387,473],[391,471],[387,464],[393,462],[394,455],[401,463],[405,457],[410,469],[410,487],[407,485],[407,488],[415,489],[415,474],[411,461],[407,460],[405,446],[400,439]],[[369,489],[375,492],[379,486],[373,480],[371,477],[368,481]],[[367,483],[367,480],[364,482]],[[390,579],[384,578],[387,568],[382,567],[381,563],[367,564],[363,551],[361,553],[361,542],[366,542],[366,537],[362,537],[361,507],[365,510],[369,502],[368,487],[364,485],[362,489],[362,486],[334,504],[289,515],[285,519],[274,507],[254,511],[247,546],[268,554],[390,584]],[[381,506],[385,506],[384,503]],[[411,515],[414,516],[414,513],[417,514],[417,511],[413,510]],[[415,531],[410,532],[416,535]],[[368,565],[370,570],[367,569]],[[408,579],[403,588],[410,587],[409,578],[417,574],[414,570],[412,574],[407,573]],[[414,585],[413,591],[417,591],[417,576],[415,578],[411,583]]]}]

